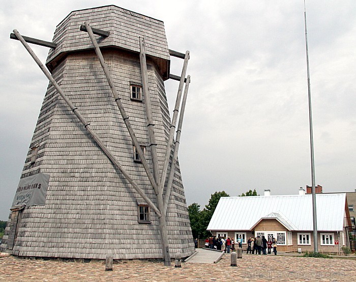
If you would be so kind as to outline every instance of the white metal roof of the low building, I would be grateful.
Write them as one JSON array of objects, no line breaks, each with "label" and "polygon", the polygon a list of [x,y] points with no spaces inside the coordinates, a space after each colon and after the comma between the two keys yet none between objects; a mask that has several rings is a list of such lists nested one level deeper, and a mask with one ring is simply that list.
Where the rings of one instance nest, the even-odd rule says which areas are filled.
[{"label": "white metal roof of the low building", "polygon": [[[316,194],[318,231],[342,231],[345,193]],[[276,218],[288,230],[312,231],[312,195],[222,197],[207,230],[252,230],[261,218]]]}]

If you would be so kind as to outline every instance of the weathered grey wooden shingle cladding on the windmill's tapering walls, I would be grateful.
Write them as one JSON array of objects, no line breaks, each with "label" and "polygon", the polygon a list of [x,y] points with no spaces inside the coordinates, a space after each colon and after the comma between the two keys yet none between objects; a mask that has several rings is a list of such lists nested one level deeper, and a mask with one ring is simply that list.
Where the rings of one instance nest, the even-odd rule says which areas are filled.
[{"label": "weathered grey wooden shingle cladding on the windmill's tapering walls", "polygon": [[[164,33],[160,21],[109,6],[72,12],[57,27],[54,38],[56,41],[73,39],[73,43],[68,41],[68,47],[62,48],[71,48],[70,44],[75,50],[89,48],[87,35],[84,34],[85,39],[84,35],[77,36],[76,32],[72,35],[74,28],[70,27],[69,20],[75,17],[79,24],[82,23],[82,15],[87,18],[93,15],[93,22],[98,21],[99,26],[96,27],[110,30],[121,25],[114,17],[102,18],[102,14],[108,11],[120,14],[124,22],[135,23],[137,29],[143,29],[142,26],[146,26],[143,23],[152,21],[147,29],[157,27],[157,37]],[[99,19],[103,21],[100,24]],[[147,30],[140,30],[140,33],[144,32]],[[130,30],[128,33],[131,35]],[[166,47],[163,44],[161,49]],[[157,52],[161,49],[158,48]],[[55,52],[49,54],[49,59]],[[103,55],[136,136],[140,144],[146,146],[146,159],[152,171],[144,99],[143,102],[130,99],[130,82],[141,83],[139,57],[119,49],[105,49]],[[163,78],[153,60],[147,60],[147,71],[162,170],[170,125],[168,103]],[[133,161],[132,140],[95,52],[67,54],[52,74],[80,114],[156,204],[156,194],[142,164]],[[34,144],[40,145],[37,160],[31,165],[29,150],[21,177],[37,173],[50,175],[46,204],[26,207],[20,212],[17,237],[13,249],[7,251],[26,257],[104,259],[112,254],[114,259],[162,258],[157,215],[151,210],[151,223],[138,222],[138,203],[142,199],[114,168],[51,84],[44,97],[30,148]],[[189,256],[194,252],[194,244],[179,164],[169,199],[166,221],[171,256],[175,252],[181,252],[183,257]],[[14,222],[11,221],[10,217],[3,249],[8,248],[10,242],[7,241],[14,232],[11,225]]]}]

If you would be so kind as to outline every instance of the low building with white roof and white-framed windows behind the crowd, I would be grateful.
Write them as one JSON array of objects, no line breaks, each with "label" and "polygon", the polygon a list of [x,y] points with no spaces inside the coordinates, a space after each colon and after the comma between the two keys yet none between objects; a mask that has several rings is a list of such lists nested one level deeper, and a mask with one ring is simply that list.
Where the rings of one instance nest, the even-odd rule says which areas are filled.
[{"label": "low building with white roof and white-framed windows behind the crowd", "polygon": [[[339,252],[349,245],[350,225],[346,193],[316,194],[318,249]],[[312,195],[302,188],[299,195],[222,197],[207,227],[216,236],[276,238],[279,251],[313,251]]]}]

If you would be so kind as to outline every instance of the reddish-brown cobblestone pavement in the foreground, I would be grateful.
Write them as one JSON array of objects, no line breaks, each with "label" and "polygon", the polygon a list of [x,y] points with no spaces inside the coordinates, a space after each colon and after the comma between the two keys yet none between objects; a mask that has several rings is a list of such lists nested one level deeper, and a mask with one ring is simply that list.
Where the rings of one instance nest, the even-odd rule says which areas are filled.
[{"label": "reddish-brown cobblestone pavement in the foreground", "polygon": [[356,261],[284,256],[244,255],[238,267],[230,255],[217,264],[185,264],[182,268],[147,261],[123,261],[105,271],[105,262],[65,262],[0,258],[0,281],[355,281]]}]

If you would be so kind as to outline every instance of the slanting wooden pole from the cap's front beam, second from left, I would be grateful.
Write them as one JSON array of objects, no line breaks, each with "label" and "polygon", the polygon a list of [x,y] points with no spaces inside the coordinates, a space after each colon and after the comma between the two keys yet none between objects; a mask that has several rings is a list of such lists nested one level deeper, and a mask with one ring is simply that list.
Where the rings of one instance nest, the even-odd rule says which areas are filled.
[{"label": "slanting wooden pole from the cap's front beam, second from left", "polygon": [[140,160],[142,162],[143,168],[144,168],[144,170],[145,170],[145,172],[147,174],[147,177],[149,177],[151,185],[154,187],[154,189],[156,191],[156,190],[158,190],[158,185],[157,185],[157,183],[156,183],[156,181],[155,181],[155,179],[154,179],[154,177],[153,177],[153,175],[152,175],[152,173],[150,171],[150,167],[147,164],[147,160],[146,160],[146,158],[145,158],[145,156],[143,154],[143,151],[141,149],[140,144],[138,143],[138,140],[136,138],[135,132],[132,129],[132,126],[131,126],[130,121],[129,121],[129,117],[126,115],[126,111],[125,111],[125,108],[123,106],[123,103],[121,102],[121,98],[117,94],[116,88],[114,86],[114,82],[113,82],[113,80],[111,78],[111,75],[109,73],[109,70],[108,70],[108,68],[107,68],[107,66],[105,64],[103,54],[101,53],[99,45],[98,45],[97,41],[94,38],[92,27],[86,21],[84,22],[84,24],[85,24],[85,27],[86,27],[86,31],[87,31],[90,39],[92,40],[92,43],[93,43],[94,48],[95,48],[95,52],[97,53],[97,56],[98,56],[99,61],[100,61],[100,64],[101,64],[101,66],[103,68],[103,71],[105,73],[105,76],[106,76],[106,78],[107,78],[107,80],[109,82],[111,93],[112,93],[112,95],[113,95],[113,97],[115,99],[115,102],[116,102],[116,104],[118,106],[118,109],[120,110],[120,113],[121,113],[121,116],[123,117],[123,120],[124,120],[124,123],[126,125],[126,128],[129,131],[129,134],[131,136],[132,142],[134,143],[135,148],[137,150],[137,153],[138,153],[138,155],[140,157]]}]

